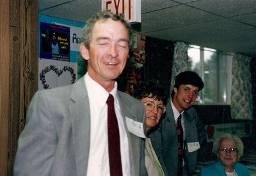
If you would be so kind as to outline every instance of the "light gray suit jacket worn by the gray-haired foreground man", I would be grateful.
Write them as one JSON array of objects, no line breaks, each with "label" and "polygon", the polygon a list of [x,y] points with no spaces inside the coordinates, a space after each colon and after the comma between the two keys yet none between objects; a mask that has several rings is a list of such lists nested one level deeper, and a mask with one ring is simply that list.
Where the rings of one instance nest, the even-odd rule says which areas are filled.
[{"label": "light gray suit jacket worn by the gray-haired foreground man", "polygon": [[[97,96],[97,95],[95,95]],[[145,106],[118,91],[122,115],[143,122]],[[38,91],[19,137],[15,175],[86,175],[90,150],[90,106],[84,78],[73,85]],[[126,124],[125,124],[126,126]],[[131,175],[147,175],[145,140],[130,133]],[[95,175],[96,176],[96,175]]]}]

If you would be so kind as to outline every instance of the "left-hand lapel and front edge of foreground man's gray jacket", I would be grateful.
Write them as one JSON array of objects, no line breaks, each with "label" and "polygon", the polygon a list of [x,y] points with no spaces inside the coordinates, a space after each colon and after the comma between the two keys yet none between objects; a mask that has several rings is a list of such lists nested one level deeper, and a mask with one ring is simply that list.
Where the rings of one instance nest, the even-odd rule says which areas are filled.
[{"label": "left-hand lapel and front edge of foreground man's gray jacket", "polygon": [[90,151],[90,104],[84,77],[74,84],[70,99],[69,108],[77,175],[86,175]]}]

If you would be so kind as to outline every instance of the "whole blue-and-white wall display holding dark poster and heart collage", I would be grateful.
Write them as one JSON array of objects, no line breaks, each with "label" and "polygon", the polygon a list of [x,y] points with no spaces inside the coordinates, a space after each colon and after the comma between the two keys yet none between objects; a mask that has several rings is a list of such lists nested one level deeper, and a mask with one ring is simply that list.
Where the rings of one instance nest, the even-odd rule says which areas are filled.
[{"label": "whole blue-and-white wall display holding dark poster and heart collage", "polygon": [[85,24],[47,15],[38,21],[38,90],[74,84]]}]

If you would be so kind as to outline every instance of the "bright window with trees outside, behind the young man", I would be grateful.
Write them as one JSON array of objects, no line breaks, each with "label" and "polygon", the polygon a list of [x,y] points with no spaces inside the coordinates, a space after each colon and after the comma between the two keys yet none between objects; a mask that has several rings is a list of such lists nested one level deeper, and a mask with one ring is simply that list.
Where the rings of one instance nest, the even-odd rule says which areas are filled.
[{"label": "bright window with trees outside, behind the young man", "polygon": [[195,104],[230,105],[232,55],[211,48],[189,45],[189,70],[204,81]]}]

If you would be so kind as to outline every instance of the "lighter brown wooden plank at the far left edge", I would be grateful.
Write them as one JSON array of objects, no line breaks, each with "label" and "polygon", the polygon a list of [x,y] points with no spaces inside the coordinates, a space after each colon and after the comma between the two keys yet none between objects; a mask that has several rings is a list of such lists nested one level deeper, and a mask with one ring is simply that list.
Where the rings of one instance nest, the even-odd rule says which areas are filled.
[{"label": "lighter brown wooden plank at the far left edge", "polygon": [[0,175],[7,174],[9,121],[9,0],[0,0]]}]

